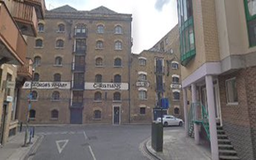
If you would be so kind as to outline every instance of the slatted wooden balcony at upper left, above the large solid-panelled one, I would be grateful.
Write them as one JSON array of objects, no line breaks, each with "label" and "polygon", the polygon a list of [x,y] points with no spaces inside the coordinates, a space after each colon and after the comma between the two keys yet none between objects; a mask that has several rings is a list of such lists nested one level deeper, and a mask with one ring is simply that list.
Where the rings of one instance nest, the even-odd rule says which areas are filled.
[{"label": "slatted wooden balcony at upper left, above the large solid-panelled one", "polygon": [[35,7],[21,2],[13,1],[13,18],[17,22],[23,35],[36,37],[37,16]]}]

